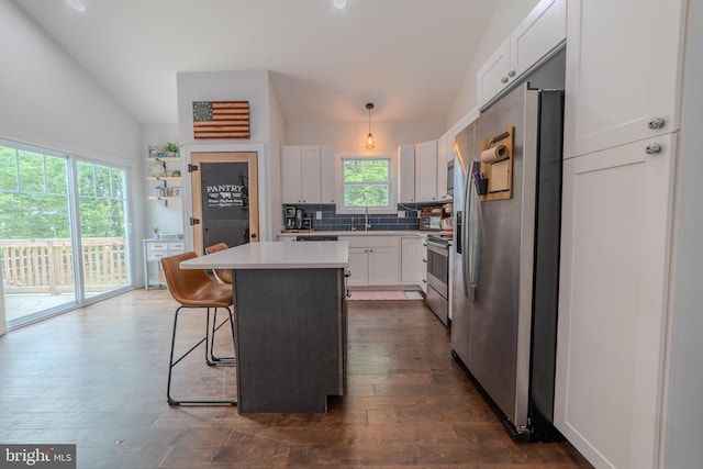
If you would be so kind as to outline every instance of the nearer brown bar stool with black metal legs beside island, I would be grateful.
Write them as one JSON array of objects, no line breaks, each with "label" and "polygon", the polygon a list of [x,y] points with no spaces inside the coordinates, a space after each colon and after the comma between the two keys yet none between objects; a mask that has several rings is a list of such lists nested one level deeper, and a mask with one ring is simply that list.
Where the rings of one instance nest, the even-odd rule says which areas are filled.
[{"label": "nearer brown bar stool with black metal legs beside island", "polygon": [[[232,344],[236,350],[234,338],[234,319],[232,315],[233,306],[233,290],[232,286],[227,283],[221,283],[212,280],[204,270],[198,269],[181,269],[180,263],[183,260],[198,257],[193,252],[177,254],[175,256],[164,257],[161,259],[161,266],[164,268],[164,275],[166,277],[166,284],[168,291],[174,299],[180,303],[180,306],[176,309],[174,316],[174,334],[171,338],[171,351],[168,366],[168,384],[166,395],[168,403],[171,405],[179,404],[230,404],[236,405],[236,400],[176,400],[171,398],[171,375],[174,367],[178,365],[190,353],[198,348],[201,344],[205,344],[205,364],[208,366],[234,366],[235,357],[217,358],[212,355],[212,343],[214,342],[214,334],[220,327],[227,322],[230,323],[232,331]],[[227,310],[228,319],[222,324],[216,325],[217,309],[224,308]],[[178,326],[178,315],[182,309],[204,309],[205,314],[205,336],[202,337],[196,345],[190,347],[188,351],[182,354],[179,358],[174,359],[176,348],[176,331]],[[210,327],[210,310],[214,310],[212,328]]]}]

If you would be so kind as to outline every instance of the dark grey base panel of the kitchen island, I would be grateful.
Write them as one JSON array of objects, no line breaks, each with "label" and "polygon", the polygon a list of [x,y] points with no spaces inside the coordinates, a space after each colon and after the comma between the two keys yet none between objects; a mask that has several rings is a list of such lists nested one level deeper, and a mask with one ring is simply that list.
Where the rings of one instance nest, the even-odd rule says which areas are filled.
[{"label": "dark grey base panel of the kitchen island", "polygon": [[238,412],[326,412],[346,388],[344,270],[235,270],[234,295]]}]

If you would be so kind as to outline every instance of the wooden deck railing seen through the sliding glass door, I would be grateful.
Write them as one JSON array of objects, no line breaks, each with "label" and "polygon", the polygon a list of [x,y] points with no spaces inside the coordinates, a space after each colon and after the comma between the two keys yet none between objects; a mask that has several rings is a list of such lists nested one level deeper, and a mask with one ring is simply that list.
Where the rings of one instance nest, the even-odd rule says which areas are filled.
[{"label": "wooden deck railing seen through the sliding glass door", "polygon": [[[83,286],[87,291],[126,284],[126,252],[122,237],[82,238]],[[0,239],[3,288],[10,293],[74,291],[70,239]]]}]

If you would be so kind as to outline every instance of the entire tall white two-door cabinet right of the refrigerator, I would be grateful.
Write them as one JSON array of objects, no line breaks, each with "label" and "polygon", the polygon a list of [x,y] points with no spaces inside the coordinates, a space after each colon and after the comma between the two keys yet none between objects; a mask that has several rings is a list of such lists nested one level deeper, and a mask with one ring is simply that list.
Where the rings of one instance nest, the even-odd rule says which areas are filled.
[{"label": "entire tall white two-door cabinet right of the refrigerator", "polygon": [[657,467],[682,2],[569,0],[555,424],[596,468]]}]

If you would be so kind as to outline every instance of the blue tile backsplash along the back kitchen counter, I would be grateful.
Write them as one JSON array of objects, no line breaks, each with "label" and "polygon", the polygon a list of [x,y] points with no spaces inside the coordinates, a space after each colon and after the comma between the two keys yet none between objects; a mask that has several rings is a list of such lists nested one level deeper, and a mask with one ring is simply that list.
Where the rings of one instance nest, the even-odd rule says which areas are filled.
[{"label": "blue tile backsplash along the back kitchen counter", "polygon": [[[413,204],[404,203],[398,205],[398,211],[404,211],[404,217],[398,217],[398,214],[369,214],[369,223],[371,227],[369,231],[408,231],[420,230],[420,221],[417,219],[417,212],[421,206],[429,206],[431,204]],[[437,204],[440,206],[442,204]],[[284,208],[281,208],[281,224],[286,223]],[[357,231],[364,231],[364,213],[361,214],[338,214],[336,213],[336,205],[330,204],[299,204],[297,209],[301,209],[312,217],[312,227],[316,232],[332,232],[332,231],[350,231],[352,226]],[[316,219],[316,213],[322,212],[322,220]]]}]

